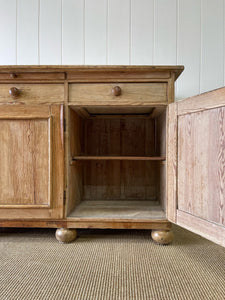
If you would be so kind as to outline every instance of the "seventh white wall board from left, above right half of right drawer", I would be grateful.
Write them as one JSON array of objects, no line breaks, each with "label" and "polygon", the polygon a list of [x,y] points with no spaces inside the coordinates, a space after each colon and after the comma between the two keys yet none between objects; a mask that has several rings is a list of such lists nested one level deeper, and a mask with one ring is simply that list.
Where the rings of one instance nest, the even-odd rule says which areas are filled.
[{"label": "seventh white wall board from left, above right half of right drawer", "polygon": [[131,64],[152,65],[153,0],[131,0]]}]

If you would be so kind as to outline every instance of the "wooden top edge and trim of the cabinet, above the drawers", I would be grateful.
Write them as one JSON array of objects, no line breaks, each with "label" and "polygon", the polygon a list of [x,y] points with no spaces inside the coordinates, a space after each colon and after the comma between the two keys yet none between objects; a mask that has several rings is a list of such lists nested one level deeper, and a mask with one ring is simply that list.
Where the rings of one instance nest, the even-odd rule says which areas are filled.
[{"label": "wooden top edge and trim of the cabinet, above the drawers", "polygon": [[0,66],[0,81],[168,81],[179,77],[183,66]]}]

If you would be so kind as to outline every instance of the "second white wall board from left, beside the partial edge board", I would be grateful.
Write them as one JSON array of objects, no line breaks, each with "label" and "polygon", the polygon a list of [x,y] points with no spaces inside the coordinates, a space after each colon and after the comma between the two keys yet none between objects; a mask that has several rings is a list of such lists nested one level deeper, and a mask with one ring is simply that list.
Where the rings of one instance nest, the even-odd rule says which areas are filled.
[{"label": "second white wall board from left, beside the partial edge board", "polygon": [[17,1],[17,64],[38,64],[38,0]]}]

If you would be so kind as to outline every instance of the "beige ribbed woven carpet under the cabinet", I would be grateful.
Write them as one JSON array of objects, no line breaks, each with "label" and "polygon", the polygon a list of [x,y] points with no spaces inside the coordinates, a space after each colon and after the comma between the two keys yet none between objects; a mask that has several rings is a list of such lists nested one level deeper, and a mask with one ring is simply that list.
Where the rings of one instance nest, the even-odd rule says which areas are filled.
[{"label": "beige ribbed woven carpet under the cabinet", "polygon": [[149,231],[0,229],[0,299],[225,299],[225,249],[174,226],[169,246]]}]

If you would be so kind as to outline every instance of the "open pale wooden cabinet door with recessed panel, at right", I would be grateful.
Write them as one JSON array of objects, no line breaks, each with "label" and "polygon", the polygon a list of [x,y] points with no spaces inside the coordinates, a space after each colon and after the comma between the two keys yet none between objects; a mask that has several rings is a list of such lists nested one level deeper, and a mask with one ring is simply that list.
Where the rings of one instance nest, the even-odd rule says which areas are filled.
[{"label": "open pale wooden cabinet door with recessed panel, at right", "polygon": [[169,105],[168,219],[225,246],[225,88]]}]

